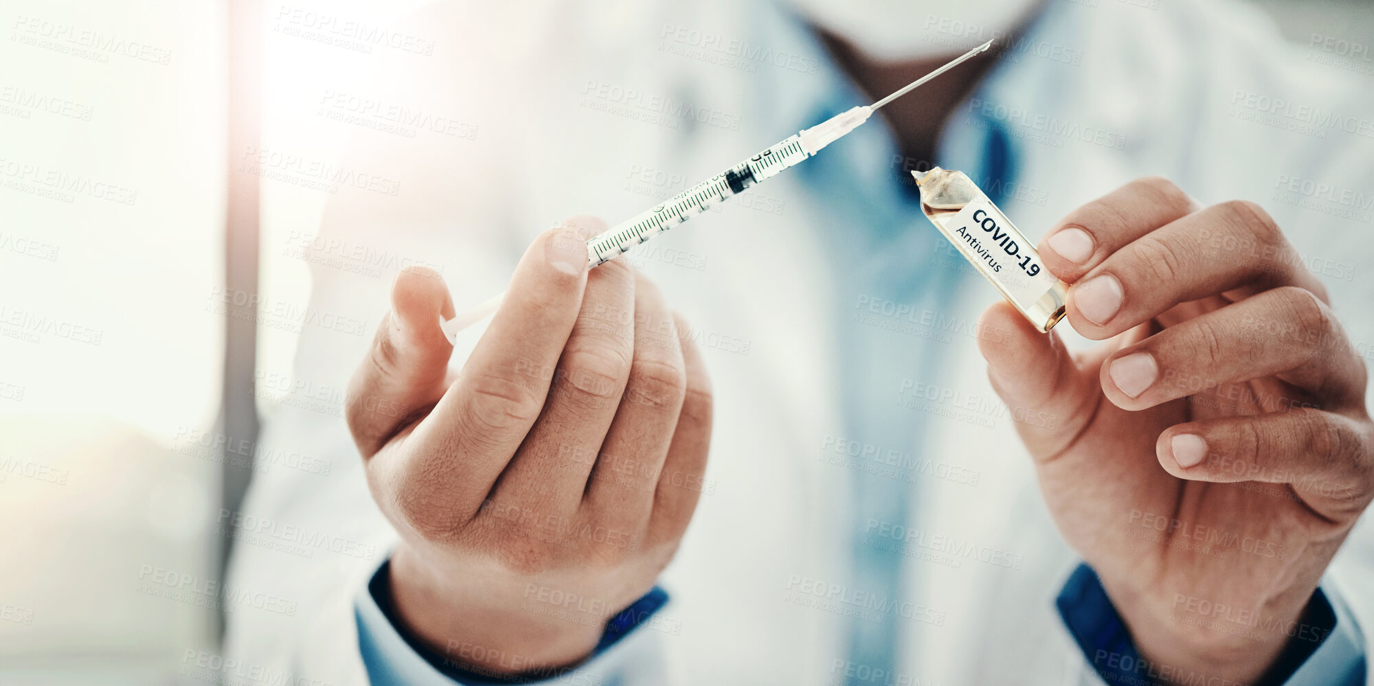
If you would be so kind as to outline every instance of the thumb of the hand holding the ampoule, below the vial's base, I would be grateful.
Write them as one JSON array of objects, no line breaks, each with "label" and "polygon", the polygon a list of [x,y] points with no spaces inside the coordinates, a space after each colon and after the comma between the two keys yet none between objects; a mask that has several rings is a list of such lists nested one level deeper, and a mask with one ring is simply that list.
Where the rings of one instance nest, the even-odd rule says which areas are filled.
[{"label": "thumb of the hand holding the ampoule, below the vial's base", "polygon": [[999,300],[978,318],[978,350],[1037,462],[1062,453],[1092,421],[1102,395],[1096,372],[1083,369],[1057,333],[1040,333],[1011,303]]}]

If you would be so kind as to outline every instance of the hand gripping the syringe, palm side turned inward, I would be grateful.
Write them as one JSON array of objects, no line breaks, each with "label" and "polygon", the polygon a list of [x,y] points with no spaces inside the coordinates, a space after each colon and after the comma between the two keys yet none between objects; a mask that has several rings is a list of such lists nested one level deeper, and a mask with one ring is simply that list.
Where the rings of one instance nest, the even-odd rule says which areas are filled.
[{"label": "hand gripping the syringe, palm side turned inward", "polygon": [[[605,226],[577,222],[584,235]],[[653,586],[701,493],[712,398],[658,289],[544,233],[462,373],[438,274],[403,272],[348,394],[372,497],[401,535],[393,604],[484,672],[585,657]]]}]

